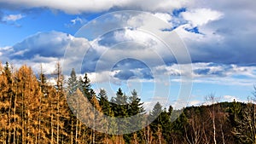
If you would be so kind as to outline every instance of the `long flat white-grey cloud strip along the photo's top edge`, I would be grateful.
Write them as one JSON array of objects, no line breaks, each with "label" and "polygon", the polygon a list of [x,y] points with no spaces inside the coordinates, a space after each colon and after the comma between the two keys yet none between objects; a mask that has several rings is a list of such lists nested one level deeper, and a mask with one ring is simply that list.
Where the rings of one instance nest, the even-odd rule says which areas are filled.
[{"label": "long flat white-grey cloud strip along the photo's top edge", "polygon": [[[1,2],[1,1],[0,1]],[[47,7],[49,9],[60,9],[70,14],[80,14],[83,12],[101,12],[108,11],[109,9],[141,9],[146,11],[169,11],[188,6],[192,2],[189,0],[148,0],[147,3],[143,0],[45,0],[45,1],[30,1],[30,0],[11,0],[2,1],[8,5],[15,5],[16,7],[25,8],[40,8]]]}]

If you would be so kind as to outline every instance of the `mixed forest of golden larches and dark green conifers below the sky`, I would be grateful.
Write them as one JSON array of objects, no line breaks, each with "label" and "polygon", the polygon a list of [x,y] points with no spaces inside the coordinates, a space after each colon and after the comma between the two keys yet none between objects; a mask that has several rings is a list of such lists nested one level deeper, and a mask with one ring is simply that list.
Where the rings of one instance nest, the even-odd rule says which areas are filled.
[{"label": "mixed forest of golden larches and dark green conifers below the sky", "polygon": [[[150,112],[146,112],[136,90],[125,95],[122,89],[117,89],[116,95],[108,100],[105,89],[96,94],[86,73],[80,78],[74,70],[70,71],[65,80],[61,64],[56,63],[55,71],[50,76],[55,79],[55,84],[49,84],[49,77],[43,71],[35,74],[26,65],[15,69],[8,62],[4,65],[0,63],[0,143],[256,143],[256,89],[247,103],[218,102],[215,95],[209,95],[207,100],[211,105],[175,110],[157,102]],[[98,115],[91,115],[87,105],[73,98],[76,95],[87,98],[99,112]],[[79,109],[76,107],[78,103]],[[87,120],[97,121],[108,132],[85,125],[78,114],[82,112],[74,109],[85,112]],[[135,126],[134,129],[138,130],[113,135],[116,131],[111,130],[117,130],[119,122],[112,120],[107,123],[102,115],[125,118],[122,122],[125,125],[121,126],[126,127],[122,130]],[[136,122],[129,118],[135,115]],[[178,117],[173,117],[175,115]]]}]

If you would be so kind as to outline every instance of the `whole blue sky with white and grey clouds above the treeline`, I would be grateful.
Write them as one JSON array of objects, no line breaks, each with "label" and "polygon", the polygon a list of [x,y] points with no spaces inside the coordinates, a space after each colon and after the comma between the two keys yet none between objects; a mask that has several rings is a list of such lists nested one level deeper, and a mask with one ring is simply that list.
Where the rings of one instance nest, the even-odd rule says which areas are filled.
[{"label": "whole blue sky with white and grey clouds above the treeline", "polygon": [[247,101],[256,84],[253,0],[0,0],[0,60],[61,61],[111,97],[136,89],[145,107]]}]

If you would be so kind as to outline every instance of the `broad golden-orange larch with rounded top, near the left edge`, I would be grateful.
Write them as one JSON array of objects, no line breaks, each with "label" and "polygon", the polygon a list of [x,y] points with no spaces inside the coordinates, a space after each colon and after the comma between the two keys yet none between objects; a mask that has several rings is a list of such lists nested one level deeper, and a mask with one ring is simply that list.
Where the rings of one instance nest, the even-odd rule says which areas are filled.
[{"label": "broad golden-orange larch with rounded top, near the left edge", "polygon": [[[21,66],[15,73],[15,79],[18,139],[22,143],[32,143],[34,140],[38,141],[38,107],[40,106],[41,91],[30,67]],[[36,138],[34,139],[34,137]]]}]

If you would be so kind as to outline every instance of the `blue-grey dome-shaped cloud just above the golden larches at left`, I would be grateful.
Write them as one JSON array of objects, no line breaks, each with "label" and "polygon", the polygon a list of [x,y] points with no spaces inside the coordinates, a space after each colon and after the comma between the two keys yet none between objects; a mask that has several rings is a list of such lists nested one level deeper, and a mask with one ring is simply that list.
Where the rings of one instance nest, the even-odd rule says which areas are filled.
[{"label": "blue-grey dome-shaped cloud just above the golden larches at left", "polygon": [[16,43],[9,53],[10,59],[31,60],[35,55],[61,58],[72,37],[61,32],[38,32]]}]

